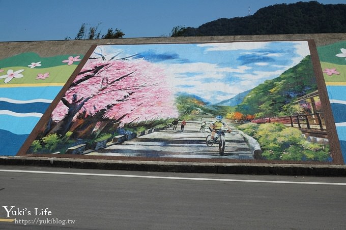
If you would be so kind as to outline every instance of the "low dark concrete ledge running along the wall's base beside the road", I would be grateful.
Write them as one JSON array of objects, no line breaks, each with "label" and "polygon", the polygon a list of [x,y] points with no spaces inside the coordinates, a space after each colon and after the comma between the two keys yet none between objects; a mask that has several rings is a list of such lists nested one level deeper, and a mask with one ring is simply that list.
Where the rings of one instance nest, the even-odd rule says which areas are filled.
[{"label": "low dark concrete ledge running along the wall's base beside the road", "polygon": [[346,177],[346,165],[301,165],[280,163],[193,163],[25,156],[2,156],[0,157],[0,165],[46,166],[146,172]]}]

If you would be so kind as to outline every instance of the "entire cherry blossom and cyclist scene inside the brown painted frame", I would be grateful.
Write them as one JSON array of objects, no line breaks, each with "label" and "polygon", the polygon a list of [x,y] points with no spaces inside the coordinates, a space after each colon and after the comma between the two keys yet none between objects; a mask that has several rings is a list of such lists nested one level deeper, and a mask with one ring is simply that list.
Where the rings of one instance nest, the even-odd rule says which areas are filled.
[{"label": "entire cherry blossom and cyclist scene inside the brown painted frame", "polygon": [[26,153],[333,161],[308,41],[92,49]]}]

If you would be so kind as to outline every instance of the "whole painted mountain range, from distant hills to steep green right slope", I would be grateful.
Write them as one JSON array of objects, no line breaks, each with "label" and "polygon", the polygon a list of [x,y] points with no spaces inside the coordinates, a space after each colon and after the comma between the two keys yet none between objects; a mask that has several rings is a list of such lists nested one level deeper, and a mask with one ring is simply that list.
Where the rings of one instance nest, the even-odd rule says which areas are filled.
[{"label": "whole painted mountain range, from distant hills to steep green right slope", "polygon": [[179,93],[176,105],[180,114],[225,115],[237,111],[258,117],[287,116],[295,112],[295,100],[298,97],[317,89],[311,56],[308,55],[279,77],[267,80],[228,100],[212,104],[199,96]]}]

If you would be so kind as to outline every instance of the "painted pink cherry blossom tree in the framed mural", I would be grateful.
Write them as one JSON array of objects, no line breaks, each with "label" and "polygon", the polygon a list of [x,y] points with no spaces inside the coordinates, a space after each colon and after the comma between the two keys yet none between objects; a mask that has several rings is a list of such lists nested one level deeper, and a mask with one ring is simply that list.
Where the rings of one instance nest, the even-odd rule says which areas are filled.
[{"label": "painted pink cherry blossom tree in the framed mural", "polygon": [[77,117],[120,123],[177,117],[174,94],[162,69],[142,59],[89,59],[52,113],[49,133],[65,135]]}]

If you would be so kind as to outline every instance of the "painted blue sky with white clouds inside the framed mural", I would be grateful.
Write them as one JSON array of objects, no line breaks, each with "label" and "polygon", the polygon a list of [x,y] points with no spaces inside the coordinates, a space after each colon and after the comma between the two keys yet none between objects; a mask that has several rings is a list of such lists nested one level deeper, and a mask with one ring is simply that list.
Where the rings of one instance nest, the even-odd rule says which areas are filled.
[{"label": "painted blue sky with white clouds inside the framed mural", "polygon": [[176,92],[218,103],[279,77],[310,54],[306,41],[98,46],[110,59],[142,58],[165,70]]}]

